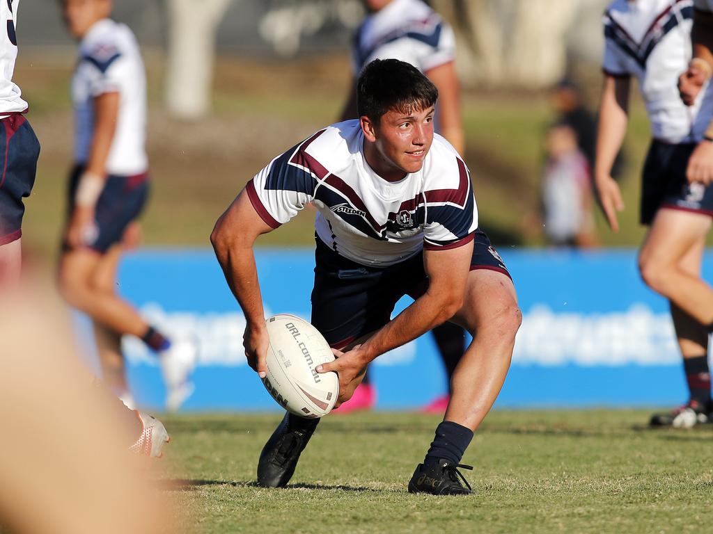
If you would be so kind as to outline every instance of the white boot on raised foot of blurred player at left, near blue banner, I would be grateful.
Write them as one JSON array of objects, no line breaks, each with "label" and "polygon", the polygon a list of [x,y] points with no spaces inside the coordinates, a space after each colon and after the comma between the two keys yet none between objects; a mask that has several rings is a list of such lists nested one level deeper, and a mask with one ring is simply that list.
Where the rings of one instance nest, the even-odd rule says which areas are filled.
[{"label": "white boot on raised foot of blurred player at left, near blue banner", "polygon": [[175,412],[195,389],[190,374],[198,362],[198,346],[190,340],[175,340],[158,357],[166,386],[166,409]]}]

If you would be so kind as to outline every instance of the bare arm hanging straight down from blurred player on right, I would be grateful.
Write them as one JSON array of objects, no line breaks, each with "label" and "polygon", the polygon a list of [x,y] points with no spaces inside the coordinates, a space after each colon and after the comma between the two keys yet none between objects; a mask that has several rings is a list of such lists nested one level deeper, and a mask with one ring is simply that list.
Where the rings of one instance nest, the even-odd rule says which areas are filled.
[{"label": "bare arm hanging straight down from blurred player on right", "polygon": [[624,209],[619,185],[612,178],[611,172],[614,160],[624,142],[629,121],[629,87],[628,76],[605,74],[599,108],[594,183],[602,209],[613,231],[619,231],[616,212]]}]

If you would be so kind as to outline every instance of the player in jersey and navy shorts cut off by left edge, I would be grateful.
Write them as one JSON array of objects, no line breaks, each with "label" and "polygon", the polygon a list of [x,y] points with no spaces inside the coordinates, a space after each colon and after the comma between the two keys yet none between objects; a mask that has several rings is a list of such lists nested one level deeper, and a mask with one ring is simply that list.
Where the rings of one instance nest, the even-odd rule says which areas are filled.
[{"label": "player in jersey and navy shorts cut off by left edge", "polygon": [[40,145],[23,113],[27,103],[12,77],[17,58],[15,27],[20,0],[0,2],[1,20],[7,21],[0,40],[0,150],[5,155],[0,176],[0,290],[19,281],[22,262],[22,199],[35,182]]}]

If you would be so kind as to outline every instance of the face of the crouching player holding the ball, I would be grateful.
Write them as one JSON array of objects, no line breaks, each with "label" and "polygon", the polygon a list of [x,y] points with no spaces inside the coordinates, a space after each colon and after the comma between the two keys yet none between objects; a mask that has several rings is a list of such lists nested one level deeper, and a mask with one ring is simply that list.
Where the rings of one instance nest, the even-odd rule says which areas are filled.
[{"label": "face of the crouching player holding the ball", "polygon": [[406,174],[419,172],[434,140],[434,107],[407,112],[389,110],[381,115],[379,124],[364,124],[364,137],[371,147],[366,160],[379,176],[395,181]]}]

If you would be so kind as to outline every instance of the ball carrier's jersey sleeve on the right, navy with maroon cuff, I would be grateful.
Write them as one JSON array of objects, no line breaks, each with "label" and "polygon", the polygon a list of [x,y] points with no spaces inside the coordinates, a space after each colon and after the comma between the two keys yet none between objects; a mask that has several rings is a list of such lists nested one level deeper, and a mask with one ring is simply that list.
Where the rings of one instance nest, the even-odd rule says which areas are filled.
[{"label": "ball carrier's jersey sleeve on the right, navy with maroon cuff", "polygon": [[473,239],[478,228],[478,209],[473,197],[468,168],[458,158],[458,188],[424,192],[426,224],[424,248],[445,250],[463,246]]}]

